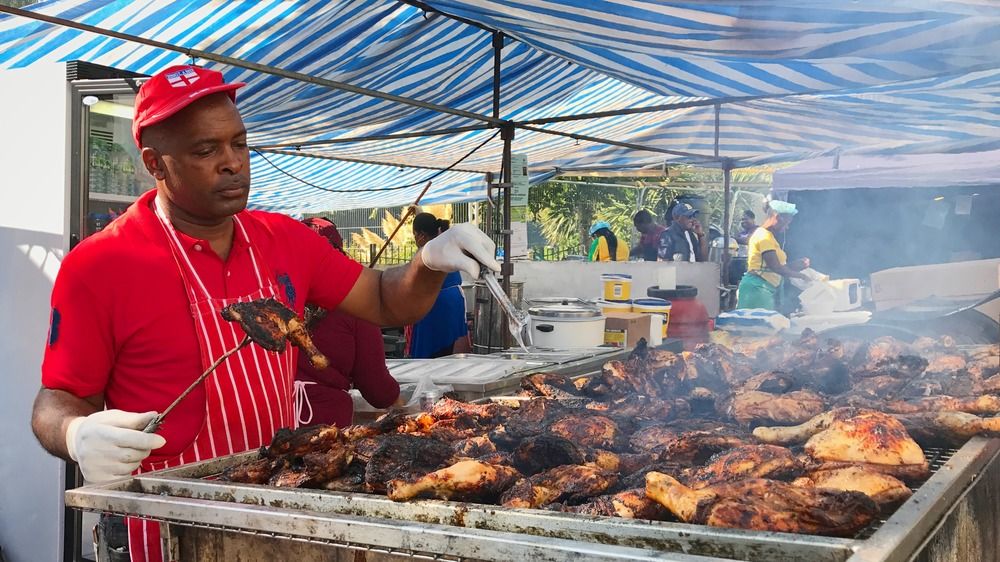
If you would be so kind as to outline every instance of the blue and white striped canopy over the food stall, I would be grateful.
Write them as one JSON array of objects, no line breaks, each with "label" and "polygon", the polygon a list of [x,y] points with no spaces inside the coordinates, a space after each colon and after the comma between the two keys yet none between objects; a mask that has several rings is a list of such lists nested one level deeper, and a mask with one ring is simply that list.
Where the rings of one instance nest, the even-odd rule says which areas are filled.
[{"label": "blue and white striped canopy over the food stall", "polygon": [[[502,31],[500,117],[625,108],[650,113],[538,125],[641,145],[518,129],[536,177],[735,165],[839,151],[899,154],[1000,148],[1000,2],[851,0],[431,0]],[[397,0],[184,2],[58,0],[45,14],[442,106],[492,112],[492,34]],[[0,16],[0,68],[84,60],[151,74],[174,51]],[[252,204],[290,213],[479,199],[500,168],[496,130],[393,140],[367,135],[481,125],[445,114],[211,61],[249,85]],[[718,145],[716,108],[719,102]],[[327,144],[322,144],[327,141]],[[485,143],[485,144],[484,144]],[[433,169],[454,165],[439,174]],[[716,152],[717,151],[717,152]],[[682,153],[682,154],[678,154]]]}]

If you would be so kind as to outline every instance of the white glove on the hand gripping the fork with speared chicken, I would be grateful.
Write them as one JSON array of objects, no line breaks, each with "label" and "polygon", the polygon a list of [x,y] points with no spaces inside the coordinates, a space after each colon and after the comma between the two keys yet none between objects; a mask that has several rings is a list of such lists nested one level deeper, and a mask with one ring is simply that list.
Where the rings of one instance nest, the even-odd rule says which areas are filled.
[{"label": "white glove on the hand gripping the fork with speared chicken", "polygon": [[132,474],[150,451],[167,440],[155,433],[143,433],[156,412],[136,414],[104,410],[69,422],[66,449],[80,465],[84,479],[102,484]]}]

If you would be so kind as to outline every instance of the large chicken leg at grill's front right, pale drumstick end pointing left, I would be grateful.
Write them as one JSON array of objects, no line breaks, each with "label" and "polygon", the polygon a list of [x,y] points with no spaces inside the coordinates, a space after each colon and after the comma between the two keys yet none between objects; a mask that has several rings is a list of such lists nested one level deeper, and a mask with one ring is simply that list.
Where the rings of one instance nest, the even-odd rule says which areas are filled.
[{"label": "large chicken leg at grill's front right, pale drumstick end pointing left", "polygon": [[863,529],[879,511],[860,492],[803,488],[759,478],[694,490],[671,476],[650,472],[646,495],[686,523],[839,537]]}]

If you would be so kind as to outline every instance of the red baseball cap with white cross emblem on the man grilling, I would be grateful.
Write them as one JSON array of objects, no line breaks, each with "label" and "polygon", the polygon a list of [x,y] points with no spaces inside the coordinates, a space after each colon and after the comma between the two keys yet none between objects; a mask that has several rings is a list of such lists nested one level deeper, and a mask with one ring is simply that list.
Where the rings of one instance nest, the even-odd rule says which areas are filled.
[{"label": "red baseball cap with white cross emblem on the man grilling", "polygon": [[226,92],[236,103],[236,90],[246,86],[243,82],[227,84],[222,73],[181,64],[157,72],[139,88],[135,96],[135,116],[132,118],[132,137],[142,148],[142,129],[155,125],[201,98]]}]

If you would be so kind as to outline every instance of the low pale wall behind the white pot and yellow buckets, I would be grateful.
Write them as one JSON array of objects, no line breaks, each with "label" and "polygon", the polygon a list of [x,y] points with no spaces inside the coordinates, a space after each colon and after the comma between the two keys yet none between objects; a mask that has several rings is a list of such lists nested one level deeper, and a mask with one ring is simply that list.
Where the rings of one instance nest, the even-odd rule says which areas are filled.
[{"label": "low pale wall behind the white pot and yellow buckets", "polygon": [[658,284],[658,271],[677,268],[678,285],[694,285],[698,299],[705,304],[708,315],[719,314],[719,264],[666,262],[580,262],[559,261],[514,262],[513,281],[524,282],[524,298],[578,297],[594,299],[601,296],[603,273],[626,273],[632,276],[632,298],[645,298],[646,288]]}]

